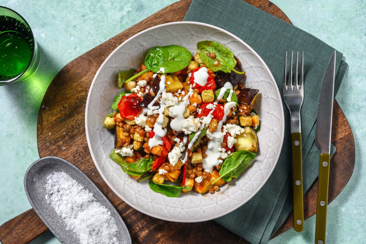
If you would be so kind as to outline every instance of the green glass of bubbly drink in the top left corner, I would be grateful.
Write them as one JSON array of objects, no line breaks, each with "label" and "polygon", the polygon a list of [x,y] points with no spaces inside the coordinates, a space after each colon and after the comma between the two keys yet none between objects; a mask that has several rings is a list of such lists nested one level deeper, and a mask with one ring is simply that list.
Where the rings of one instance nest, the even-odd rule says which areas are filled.
[{"label": "green glass of bubbly drink in the top left corner", "polygon": [[0,6],[0,85],[27,80],[39,63],[29,24],[14,10]]}]

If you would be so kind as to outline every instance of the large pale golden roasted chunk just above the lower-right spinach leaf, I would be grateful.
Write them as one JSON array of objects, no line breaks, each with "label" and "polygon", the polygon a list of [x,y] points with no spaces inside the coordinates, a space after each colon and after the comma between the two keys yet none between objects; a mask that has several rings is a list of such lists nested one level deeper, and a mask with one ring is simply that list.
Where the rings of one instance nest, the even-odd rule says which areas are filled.
[{"label": "large pale golden roasted chunk just above the lower-right spinach leaf", "polygon": [[235,137],[235,150],[247,150],[249,152],[258,151],[257,133],[250,126],[244,127],[244,132]]}]

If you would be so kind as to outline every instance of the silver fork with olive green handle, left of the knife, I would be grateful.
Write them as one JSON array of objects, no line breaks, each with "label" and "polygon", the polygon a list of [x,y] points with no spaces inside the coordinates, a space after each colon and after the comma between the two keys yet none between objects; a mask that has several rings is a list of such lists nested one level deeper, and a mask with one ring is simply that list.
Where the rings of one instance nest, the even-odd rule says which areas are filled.
[{"label": "silver fork with olive green handle, left of the knife", "polygon": [[302,183],[302,152],[301,152],[301,120],[300,109],[304,100],[304,52],[301,56],[300,84],[298,84],[298,57],[296,54],[296,67],[294,73],[294,84],[292,84],[292,55],[288,85],[286,84],[287,74],[287,52],[285,55],[285,66],[283,72],[283,98],[290,110],[291,117],[291,145],[292,145],[292,192],[294,206],[294,229],[301,232],[304,229],[304,206],[303,206],[303,183]]}]

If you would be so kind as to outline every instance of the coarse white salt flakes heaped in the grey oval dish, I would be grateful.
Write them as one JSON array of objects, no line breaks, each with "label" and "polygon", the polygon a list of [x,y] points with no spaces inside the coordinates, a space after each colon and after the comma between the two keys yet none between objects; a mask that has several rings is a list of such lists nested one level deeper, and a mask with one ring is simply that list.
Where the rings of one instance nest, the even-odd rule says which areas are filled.
[{"label": "coarse white salt flakes heaped in the grey oval dish", "polygon": [[81,244],[117,244],[117,225],[111,212],[65,172],[47,177],[46,201],[78,235]]}]

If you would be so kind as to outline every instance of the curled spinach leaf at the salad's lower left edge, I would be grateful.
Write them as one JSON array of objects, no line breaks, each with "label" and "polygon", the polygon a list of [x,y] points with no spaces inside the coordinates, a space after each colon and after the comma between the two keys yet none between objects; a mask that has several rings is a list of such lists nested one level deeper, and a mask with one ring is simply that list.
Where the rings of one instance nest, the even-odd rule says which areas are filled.
[{"label": "curled spinach leaf at the salad's lower left edge", "polygon": [[109,156],[113,161],[119,164],[122,170],[130,175],[141,176],[148,172],[152,168],[152,164],[154,162],[152,157],[149,158],[141,158],[134,163],[127,163],[124,156],[116,153],[112,150],[111,155]]}]

